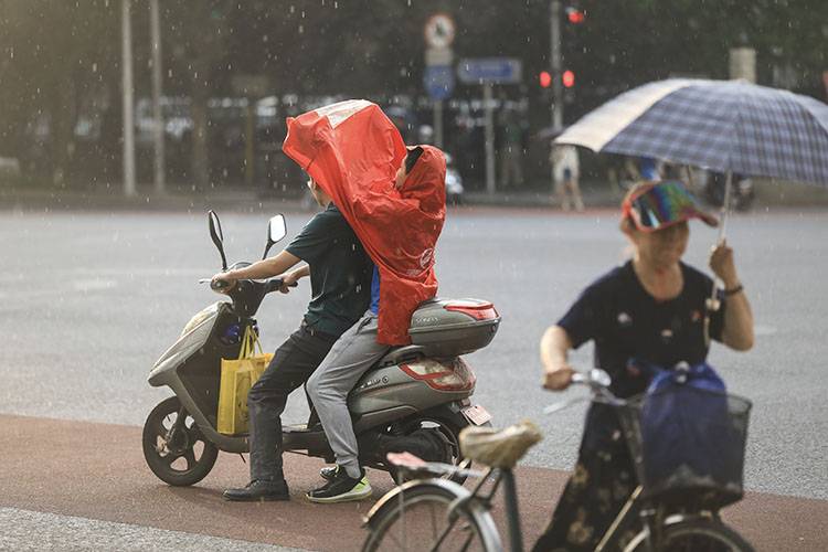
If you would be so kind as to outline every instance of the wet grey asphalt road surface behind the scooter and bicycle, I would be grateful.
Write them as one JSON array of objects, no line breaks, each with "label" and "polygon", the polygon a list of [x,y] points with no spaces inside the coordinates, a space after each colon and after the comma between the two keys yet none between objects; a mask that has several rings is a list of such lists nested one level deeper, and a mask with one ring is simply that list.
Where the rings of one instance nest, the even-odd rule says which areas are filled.
[{"label": "wet grey asphalt road surface behind the scooter and bicycle", "polygon": [[[288,215],[289,234],[307,217]],[[261,255],[266,216],[227,213],[222,222],[231,261]],[[703,266],[714,237],[693,224],[687,261]],[[757,341],[751,352],[716,347],[710,358],[731,391],[754,402],[747,488],[818,503],[828,499],[827,238],[824,211],[732,217],[729,240],[754,308]],[[496,425],[531,417],[544,428],[528,466],[569,469],[583,416],[578,407],[551,417],[541,413],[578,391],[553,395],[539,388],[538,340],[588,282],[624,258],[624,250],[609,211],[449,212],[437,251],[440,295],[490,299],[501,312],[495,341],[467,360],[478,375],[475,399]],[[190,316],[217,298],[197,284],[220,266],[204,215],[2,212],[0,252],[0,414],[141,425],[168,395],[146,384],[149,368]],[[288,296],[266,299],[258,319],[267,348],[297,326],[307,291],[304,283]],[[591,355],[587,346],[573,359],[586,367]],[[297,396],[286,418],[301,422],[306,412]],[[0,434],[8,437],[13,420],[0,418]],[[24,448],[34,445],[20,440]],[[0,449],[0,463],[7,454]],[[33,461],[38,454],[32,448]],[[147,474],[145,485],[157,488]],[[236,474],[244,478],[244,469]],[[828,521],[825,509],[818,511]]]}]

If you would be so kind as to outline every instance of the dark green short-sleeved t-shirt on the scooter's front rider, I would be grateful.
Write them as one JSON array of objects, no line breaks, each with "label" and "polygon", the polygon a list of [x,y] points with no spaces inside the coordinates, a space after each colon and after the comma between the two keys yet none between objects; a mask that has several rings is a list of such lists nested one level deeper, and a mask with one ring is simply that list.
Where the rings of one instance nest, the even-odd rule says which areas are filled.
[{"label": "dark green short-sleeved t-shirt on the scooter's front rider", "polygon": [[308,221],[285,251],[310,265],[309,326],[339,337],[365,314],[373,265],[333,203]]}]

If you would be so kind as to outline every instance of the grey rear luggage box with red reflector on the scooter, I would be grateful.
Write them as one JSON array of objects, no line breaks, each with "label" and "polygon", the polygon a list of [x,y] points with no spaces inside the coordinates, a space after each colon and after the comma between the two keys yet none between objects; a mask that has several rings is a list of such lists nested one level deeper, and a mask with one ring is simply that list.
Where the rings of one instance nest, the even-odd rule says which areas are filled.
[{"label": "grey rear luggage box with red reflector on the scooter", "polygon": [[456,357],[489,344],[500,316],[495,306],[480,299],[432,299],[411,317],[411,341],[425,348],[428,357]]}]

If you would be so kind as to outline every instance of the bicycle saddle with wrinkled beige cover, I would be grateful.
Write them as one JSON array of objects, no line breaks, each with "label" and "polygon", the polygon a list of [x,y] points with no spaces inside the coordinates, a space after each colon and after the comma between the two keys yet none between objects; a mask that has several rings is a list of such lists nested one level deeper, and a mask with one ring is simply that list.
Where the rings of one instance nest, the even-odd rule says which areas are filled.
[{"label": "bicycle saddle with wrinkled beige cover", "polygon": [[489,467],[511,469],[541,438],[540,429],[529,420],[505,429],[469,426],[460,432],[460,450]]}]

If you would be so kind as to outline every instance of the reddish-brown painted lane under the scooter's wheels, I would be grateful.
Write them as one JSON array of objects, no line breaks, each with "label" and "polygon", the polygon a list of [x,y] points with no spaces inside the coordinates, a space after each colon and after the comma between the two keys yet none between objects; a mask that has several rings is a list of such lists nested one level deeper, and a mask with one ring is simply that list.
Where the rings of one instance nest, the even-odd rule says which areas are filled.
[{"label": "reddish-brown painted lane under the scooter's wheels", "polygon": [[[237,455],[221,454],[194,487],[169,487],[144,461],[140,427],[0,415],[0,506],[307,550],[359,550],[362,517],[373,500],[308,502],[304,493],[319,484],[321,465],[285,456],[289,502],[225,502],[221,491],[247,480],[247,465]],[[518,469],[524,543],[548,523],[566,476]],[[371,485],[376,499],[392,481],[372,471]],[[499,507],[501,529],[502,513]],[[756,550],[828,550],[828,501],[750,492],[724,518]]]}]

